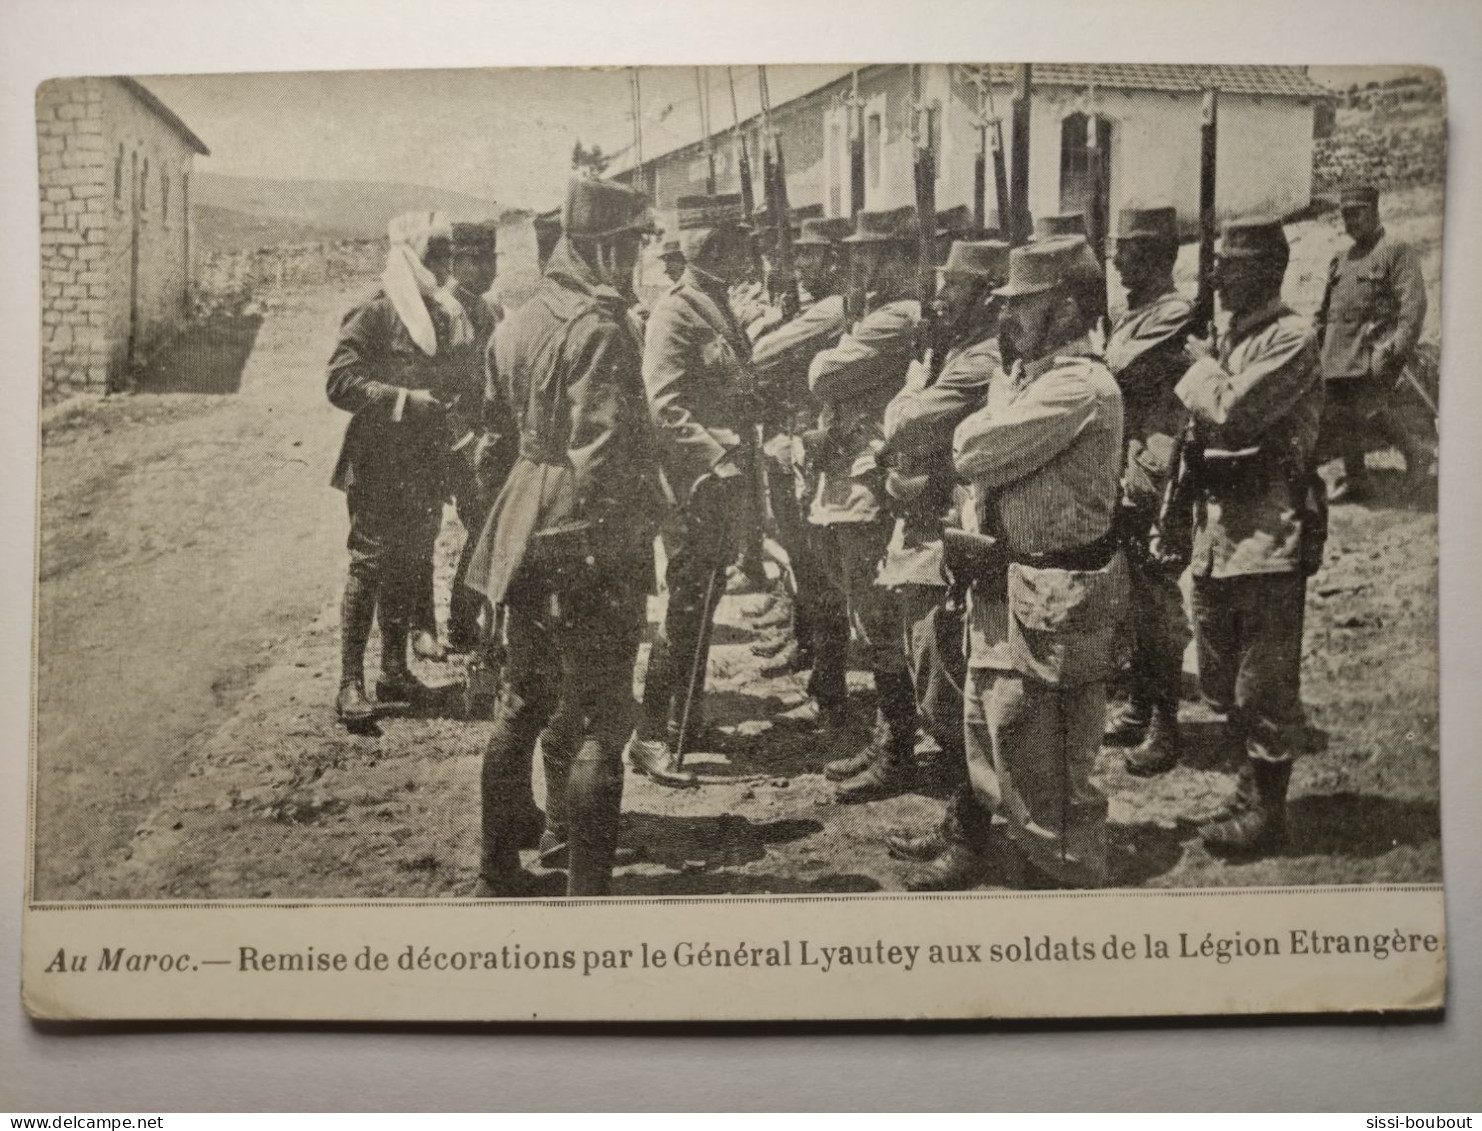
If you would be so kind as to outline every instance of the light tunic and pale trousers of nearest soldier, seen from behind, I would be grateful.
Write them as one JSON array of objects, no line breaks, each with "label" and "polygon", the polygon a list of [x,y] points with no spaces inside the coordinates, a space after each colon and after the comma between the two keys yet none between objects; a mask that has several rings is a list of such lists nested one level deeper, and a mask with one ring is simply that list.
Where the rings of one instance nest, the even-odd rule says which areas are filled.
[{"label": "light tunic and pale trousers of nearest soldier, seen from behind", "polygon": [[1106,880],[1106,797],[1091,784],[1128,600],[1112,543],[1122,394],[1080,339],[999,372],[954,436],[969,528],[1002,540],[1002,588],[969,608],[968,772],[1024,857],[1061,883]]}]

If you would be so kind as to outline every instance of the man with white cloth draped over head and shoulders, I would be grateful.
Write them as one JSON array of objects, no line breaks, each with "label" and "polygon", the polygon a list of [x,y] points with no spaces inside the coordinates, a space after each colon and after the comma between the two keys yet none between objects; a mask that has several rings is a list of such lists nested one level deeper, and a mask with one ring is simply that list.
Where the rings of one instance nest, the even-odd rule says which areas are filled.
[{"label": "man with white cloth draped over head and shoulders", "polygon": [[473,328],[446,289],[452,228],[440,212],[409,212],[388,227],[381,288],[339,328],[325,382],[351,414],[333,486],[350,510],[350,577],[339,606],[335,712],[351,728],[376,713],[365,694],[365,649],[381,624],[379,704],[424,700],[406,663],[408,633],[427,581],[446,495],[448,412],[465,379]]}]

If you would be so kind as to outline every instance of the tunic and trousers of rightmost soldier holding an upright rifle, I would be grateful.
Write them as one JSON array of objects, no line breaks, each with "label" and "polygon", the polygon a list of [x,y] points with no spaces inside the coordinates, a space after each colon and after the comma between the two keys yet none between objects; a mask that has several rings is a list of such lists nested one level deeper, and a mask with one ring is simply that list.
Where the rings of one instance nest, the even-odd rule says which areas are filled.
[{"label": "tunic and trousers of rightmost soldier holding an upright rifle", "polygon": [[1306,578],[1325,525],[1312,325],[1279,299],[1243,314],[1218,359],[1190,366],[1175,391],[1205,442],[1190,563],[1199,682],[1251,757],[1288,760],[1303,741]]}]

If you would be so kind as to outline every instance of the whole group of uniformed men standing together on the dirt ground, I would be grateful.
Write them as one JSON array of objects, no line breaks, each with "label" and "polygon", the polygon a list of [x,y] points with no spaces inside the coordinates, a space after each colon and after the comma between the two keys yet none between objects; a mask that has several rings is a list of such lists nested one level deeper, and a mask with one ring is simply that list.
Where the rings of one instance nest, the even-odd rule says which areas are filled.
[{"label": "whole group of uniformed men standing together on the dirt ground", "polygon": [[[1369,215],[1381,237],[1372,191],[1346,194],[1350,233]],[[1245,747],[1203,840],[1226,855],[1283,843],[1304,735],[1304,583],[1326,531],[1319,350],[1358,357],[1353,304],[1329,286],[1315,328],[1282,302],[1280,222],[1235,221],[1217,271],[1230,325],[1215,341],[1174,286],[1177,213],[1144,208],[1119,218],[1126,313],[1109,325],[1083,234],[1051,227],[1011,249],[931,219],[803,219],[790,256],[802,301],[784,317],[766,301],[775,249],[741,199],[686,197],[662,249],[673,286],[648,313],[633,288],[655,236],[646,199],[578,179],[559,228],[538,218],[542,277],[496,328],[476,289],[488,280],[462,279],[436,215],[393,225],[382,289],[330,362],[330,399],[354,414],[336,471],[351,517],[336,706],[357,725],[424,694],[408,631],[433,514],[452,495],[470,529],[455,602],[483,605],[504,648],[480,894],[536,891],[528,848],[565,863],[568,894],[606,894],[624,750],[655,781],[695,783],[682,756],[702,726],[711,621],[763,516],[794,588],[788,663],[811,671],[820,743],[843,754],[824,766],[837,800],[917,789],[919,731],[953,781],[938,827],[891,838],[892,855],[922,864],[908,888],[971,888],[1005,869],[1024,886],[1107,880],[1091,772],[1104,738],[1132,747],[1137,775],[1178,762],[1184,565],[1202,691]],[[922,240],[941,264],[931,304]],[[1349,259],[1372,259],[1374,243]],[[1387,253],[1412,267],[1408,249]],[[1335,259],[1334,277],[1346,271]],[[1418,336],[1414,302],[1386,311],[1365,328],[1365,379],[1377,354],[1403,363]],[[1189,541],[1171,553],[1180,520]],[[668,599],[634,726],[655,538]],[[1104,734],[1128,637],[1131,695]],[[857,749],[843,746],[857,732],[851,642],[876,692]]]}]

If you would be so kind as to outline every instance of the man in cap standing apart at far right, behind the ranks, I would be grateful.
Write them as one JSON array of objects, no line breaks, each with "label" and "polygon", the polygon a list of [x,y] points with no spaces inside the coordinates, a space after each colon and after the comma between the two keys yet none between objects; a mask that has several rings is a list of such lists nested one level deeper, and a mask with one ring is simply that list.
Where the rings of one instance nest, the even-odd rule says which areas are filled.
[{"label": "man in cap standing apart at far right, behind the ranks", "polygon": [[1343,460],[1334,503],[1368,492],[1365,440],[1377,428],[1405,457],[1411,486],[1430,471],[1424,442],[1395,412],[1395,387],[1426,322],[1426,282],[1415,251],[1390,239],[1372,185],[1343,190],[1343,228],[1353,245],[1332,256],[1317,311],[1326,387],[1323,449]]}]

